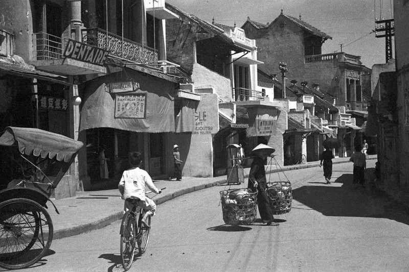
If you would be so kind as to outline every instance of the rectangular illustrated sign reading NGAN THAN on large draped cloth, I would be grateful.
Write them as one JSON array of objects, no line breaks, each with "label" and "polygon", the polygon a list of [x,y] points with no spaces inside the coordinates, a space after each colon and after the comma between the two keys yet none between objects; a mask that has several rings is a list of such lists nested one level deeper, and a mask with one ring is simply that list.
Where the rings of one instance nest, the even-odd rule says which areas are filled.
[{"label": "rectangular illustrated sign reading NGAN THAN on large draped cloth", "polygon": [[146,93],[116,94],[115,118],[146,118]]}]

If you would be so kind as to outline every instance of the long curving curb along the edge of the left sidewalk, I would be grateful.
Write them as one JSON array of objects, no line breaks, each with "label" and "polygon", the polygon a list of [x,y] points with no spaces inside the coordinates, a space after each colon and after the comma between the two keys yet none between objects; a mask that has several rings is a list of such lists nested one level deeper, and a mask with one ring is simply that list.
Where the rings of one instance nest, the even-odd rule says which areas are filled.
[{"label": "long curving curb along the edge of the left sidewalk", "polygon": [[[368,160],[374,160],[377,158],[369,158]],[[349,162],[349,159],[346,159],[345,161],[335,161],[333,162],[333,164],[339,164],[339,163],[346,163]],[[266,174],[269,173],[274,173],[274,172],[279,172],[279,171],[289,171],[289,170],[297,170],[297,169],[303,169],[303,168],[310,168],[310,167],[316,167],[319,166],[320,163],[316,163],[316,162],[311,162],[311,163],[305,163],[305,164],[298,164],[296,166],[291,165],[291,166],[283,166],[282,168],[277,168],[277,169],[267,169],[266,170]],[[244,174],[245,178],[248,178],[248,174]],[[220,184],[225,184],[227,182],[226,179],[220,179],[217,181],[213,181],[210,183],[206,183],[206,184],[200,184],[197,186],[193,186],[193,187],[189,187],[189,188],[185,188],[185,189],[181,189],[178,191],[175,191],[173,193],[169,193],[169,194],[164,194],[161,195],[159,197],[157,197],[155,199],[155,203],[156,205],[165,203],[171,199],[174,199],[177,196],[180,195],[184,195],[187,193],[191,193],[194,191],[198,191],[198,190],[202,190],[202,189],[206,189],[206,188],[210,188],[210,187],[214,187]],[[74,236],[74,235],[78,235],[81,233],[85,233],[85,232],[89,232],[89,231],[93,231],[93,230],[98,230],[101,228],[104,228],[106,226],[108,226],[109,224],[111,224],[112,222],[115,222],[117,220],[120,220],[122,218],[123,212],[119,211],[116,212],[114,214],[108,215],[102,219],[99,219],[97,221],[94,222],[90,222],[88,224],[84,224],[84,225],[80,225],[80,226],[76,226],[76,227],[72,227],[72,228],[67,228],[67,229],[61,229],[58,231],[55,231],[53,234],[53,239],[61,239],[61,238],[66,238],[66,237],[70,237],[70,236]]]}]

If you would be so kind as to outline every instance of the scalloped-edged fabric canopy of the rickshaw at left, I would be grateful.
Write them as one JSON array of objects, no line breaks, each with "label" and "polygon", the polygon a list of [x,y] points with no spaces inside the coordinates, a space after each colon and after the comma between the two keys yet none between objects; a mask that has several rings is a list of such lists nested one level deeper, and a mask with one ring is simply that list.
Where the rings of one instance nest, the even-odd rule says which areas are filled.
[{"label": "scalloped-edged fabric canopy of the rickshaw at left", "polygon": [[17,143],[21,154],[70,162],[83,143],[49,131],[7,127],[0,136],[0,145]]}]

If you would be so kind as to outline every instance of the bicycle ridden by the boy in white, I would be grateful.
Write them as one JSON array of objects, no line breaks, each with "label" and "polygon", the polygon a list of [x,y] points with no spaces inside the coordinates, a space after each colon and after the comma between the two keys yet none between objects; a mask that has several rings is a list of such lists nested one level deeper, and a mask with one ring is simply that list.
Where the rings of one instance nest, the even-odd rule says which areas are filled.
[{"label": "bicycle ridden by the boy in white", "polygon": [[[161,191],[164,189],[166,188],[161,189],[159,193],[161,193]],[[149,192],[151,191],[148,191],[146,193]],[[154,196],[152,196],[151,198],[153,198]],[[138,204],[141,200],[138,197],[130,197],[126,199],[126,201],[128,201],[132,205],[132,210],[126,211],[124,216],[122,217],[120,230],[122,266],[124,267],[125,271],[128,270],[132,265],[137,245],[139,254],[142,255],[145,253],[146,247],[148,246],[149,233],[151,229],[150,216],[148,217],[146,222],[149,227],[142,224],[142,218],[144,217],[146,210],[138,207]],[[137,217],[138,213],[139,217]]]}]

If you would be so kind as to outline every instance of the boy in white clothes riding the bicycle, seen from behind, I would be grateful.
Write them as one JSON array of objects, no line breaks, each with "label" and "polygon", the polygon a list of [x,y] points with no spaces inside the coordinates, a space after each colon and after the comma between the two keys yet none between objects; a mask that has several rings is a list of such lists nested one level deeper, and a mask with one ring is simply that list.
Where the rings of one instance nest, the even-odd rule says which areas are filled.
[{"label": "boy in white clothes riding the bicycle, seen from behind", "polygon": [[156,204],[149,197],[145,196],[145,186],[155,193],[161,193],[161,190],[157,189],[153,184],[148,172],[139,168],[141,162],[141,153],[136,151],[129,153],[131,168],[123,172],[121,181],[118,184],[118,189],[121,192],[122,199],[125,200],[124,211],[132,208],[132,205],[127,201],[128,198],[138,198],[141,200],[138,206],[147,210],[145,216],[142,218],[142,224],[149,227],[147,218],[148,216],[155,215]]}]

